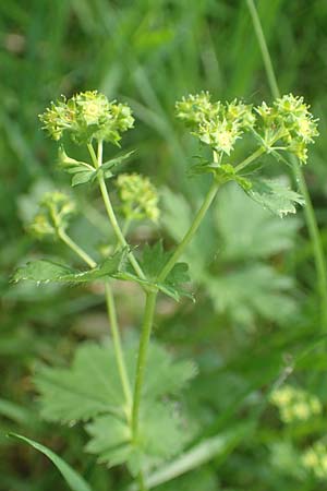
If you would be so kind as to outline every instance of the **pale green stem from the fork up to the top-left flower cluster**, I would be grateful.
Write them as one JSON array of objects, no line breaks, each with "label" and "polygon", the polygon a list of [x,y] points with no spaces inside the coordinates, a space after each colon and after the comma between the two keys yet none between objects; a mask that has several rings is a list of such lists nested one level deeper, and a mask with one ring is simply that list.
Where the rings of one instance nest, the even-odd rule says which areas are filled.
[{"label": "pale green stem from the fork up to the top-left flower cluster", "polygon": [[[92,160],[93,160],[95,167],[98,169],[102,165],[102,142],[98,142],[98,156],[96,156],[92,143],[87,144],[87,148],[88,148],[88,152],[90,154],[90,157],[92,157]],[[104,200],[104,203],[105,203],[107,215],[109,217],[109,220],[110,220],[110,224],[111,224],[111,226],[113,228],[116,237],[117,237],[119,243],[123,248],[130,249],[129,244],[128,244],[128,242],[126,242],[126,240],[125,240],[125,238],[123,236],[123,232],[121,231],[119,223],[118,223],[118,220],[116,218],[116,215],[114,215],[114,212],[113,212],[113,208],[112,208],[112,204],[111,204],[111,201],[110,201],[110,197],[109,197],[109,193],[108,193],[108,190],[107,190],[107,185],[106,185],[106,182],[105,182],[105,179],[104,179],[104,176],[101,175],[101,172],[98,173],[98,182],[99,182],[100,191],[101,191],[101,194],[102,194],[102,200]],[[136,275],[141,279],[145,279],[145,275],[144,275],[140,264],[137,263],[136,258],[134,256],[134,254],[131,251],[129,251],[128,258],[129,258],[129,261],[130,261],[131,265],[133,266]]]}]

